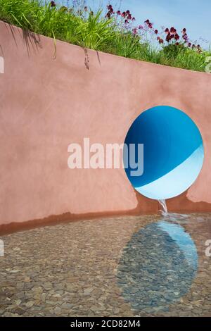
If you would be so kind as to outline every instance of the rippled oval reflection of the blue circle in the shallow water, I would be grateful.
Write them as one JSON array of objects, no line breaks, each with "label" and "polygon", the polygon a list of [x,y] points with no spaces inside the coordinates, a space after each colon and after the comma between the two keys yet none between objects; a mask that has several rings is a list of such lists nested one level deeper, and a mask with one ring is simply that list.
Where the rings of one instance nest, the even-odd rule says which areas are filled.
[{"label": "rippled oval reflection of the blue circle in the shallow water", "polygon": [[197,266],[196,246],[183,227],[151,223],[136,232],[124,249],[118,285],[132,308],[159,308],[188,292]]}]

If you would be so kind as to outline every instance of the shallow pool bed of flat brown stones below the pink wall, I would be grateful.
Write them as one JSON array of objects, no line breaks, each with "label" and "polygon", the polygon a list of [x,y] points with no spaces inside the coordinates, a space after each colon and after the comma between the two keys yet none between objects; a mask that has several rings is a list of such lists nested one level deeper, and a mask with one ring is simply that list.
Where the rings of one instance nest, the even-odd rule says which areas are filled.
[{"label": "shallow pool bed of flat brown stones below the pink wall", "polygon": [[[0,316],[211,316],[211,256],[205,256],[211,214],[178,221],[196,245],[196,273],[185,273],[185,254],[177,242],[166,232],[156,234],[160,220],[84,220],[1,237],[5,256],[0,256]],[[169,251],[166,258],[164,249]],[[167,270],[174,277],[166,275],[161,281],[172,261],[177,268]]]}]

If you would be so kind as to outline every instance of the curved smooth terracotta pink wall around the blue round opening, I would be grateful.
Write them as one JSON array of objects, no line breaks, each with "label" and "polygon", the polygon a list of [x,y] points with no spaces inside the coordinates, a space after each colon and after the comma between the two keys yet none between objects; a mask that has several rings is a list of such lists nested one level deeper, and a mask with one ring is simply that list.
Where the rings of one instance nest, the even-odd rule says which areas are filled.
[{"label": "curved smooth terracotta pink wall around the blue round opening", "polygon": [[[122,169],[68,168],[68,145],[122,143],[141,111],[185,111],[203,135],[205,162],[170,211],[211,211],[211,75],[88,51],[0,23],[0,224],[157,213]],[[89,60],[88,65],[85,65]],[[89,68],[88,68],[89,67]],[[11,224],[12,223],[12,224]],[[25,223],[32,224],[32,223]]]}]

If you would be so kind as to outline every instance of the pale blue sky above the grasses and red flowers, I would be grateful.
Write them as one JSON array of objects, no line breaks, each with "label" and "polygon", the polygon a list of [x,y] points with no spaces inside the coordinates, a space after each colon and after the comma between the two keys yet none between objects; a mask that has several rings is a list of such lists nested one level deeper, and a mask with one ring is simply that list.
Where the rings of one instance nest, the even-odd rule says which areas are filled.
[{"label": "pale blue sky above the grasses and red flowers", "polygon": [[[113,4],[114,9],[129,9],[135,16],[137,25],[148,18],[158,30],[161,26],[174,26],[179,31],[186,27],[193,42],[197,40],[205,49],[210,47],[210,0],[87,0],[91,8],[97,8],[99,4],[106,8],[108,3]],[[201,37],[207,42],[203,42]]]}]

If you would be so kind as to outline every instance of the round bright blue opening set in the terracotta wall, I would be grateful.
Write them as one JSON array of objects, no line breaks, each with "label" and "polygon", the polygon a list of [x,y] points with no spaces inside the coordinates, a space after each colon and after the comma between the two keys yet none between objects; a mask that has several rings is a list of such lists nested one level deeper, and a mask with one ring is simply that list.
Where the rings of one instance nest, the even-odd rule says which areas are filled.
[{"label": "round bright blue opening set in the terracotta wall", "polygon": [[195,182],[203,165],[200,131],[183,111],[156,106],[141,113],[124,141],[124,169],[134,189],[169,199]]}]

